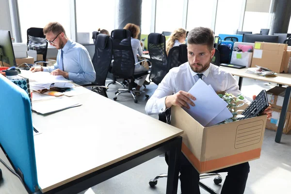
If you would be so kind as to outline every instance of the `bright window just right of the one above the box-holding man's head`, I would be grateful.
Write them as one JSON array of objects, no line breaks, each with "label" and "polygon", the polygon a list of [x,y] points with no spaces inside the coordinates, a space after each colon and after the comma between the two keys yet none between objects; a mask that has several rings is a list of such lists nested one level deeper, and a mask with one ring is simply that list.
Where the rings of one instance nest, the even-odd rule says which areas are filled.
[{"label": "bright window just right of the one above the box-holding man's head", "polygon": [[215,35],[234,34],[240,27],[243,0],[218,0]]}]

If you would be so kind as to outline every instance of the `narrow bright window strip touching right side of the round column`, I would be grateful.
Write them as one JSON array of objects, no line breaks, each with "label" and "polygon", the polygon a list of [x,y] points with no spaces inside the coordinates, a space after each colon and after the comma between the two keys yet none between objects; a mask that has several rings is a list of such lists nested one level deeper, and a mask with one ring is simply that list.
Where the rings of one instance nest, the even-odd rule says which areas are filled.
[{"label": "narrow bright window strip touching right side of the round column", "polygon": [[151,31],[152,0],[143,0],[141,33],[149,34]]}]

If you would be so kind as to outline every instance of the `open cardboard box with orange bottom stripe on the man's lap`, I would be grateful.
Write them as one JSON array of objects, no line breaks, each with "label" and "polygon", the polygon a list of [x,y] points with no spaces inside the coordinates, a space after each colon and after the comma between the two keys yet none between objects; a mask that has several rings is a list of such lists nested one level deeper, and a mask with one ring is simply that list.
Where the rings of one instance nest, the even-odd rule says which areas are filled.
[{"label": "open cardboard box with orange bottom stripe on the man's lap", "polygon": [[200,174],[260,157],[267,115],[212,127],[203,127],[177,106],[171,115],[171,125],[184,130],[182,152]]}]

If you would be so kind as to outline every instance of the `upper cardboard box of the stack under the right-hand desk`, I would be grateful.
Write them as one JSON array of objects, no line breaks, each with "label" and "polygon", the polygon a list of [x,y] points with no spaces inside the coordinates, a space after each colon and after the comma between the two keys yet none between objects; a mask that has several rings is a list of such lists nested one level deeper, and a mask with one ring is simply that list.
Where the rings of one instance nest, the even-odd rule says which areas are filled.
[{"label": "upper cardboard box of the stack under the right-hand desk", "polygon": [[[282,109],[285,91],[286,88],[276,86],[266,92],[269,104],[271,104],[273,108]],[[289,103],[288,111],[291,111],[291,103]]]}]

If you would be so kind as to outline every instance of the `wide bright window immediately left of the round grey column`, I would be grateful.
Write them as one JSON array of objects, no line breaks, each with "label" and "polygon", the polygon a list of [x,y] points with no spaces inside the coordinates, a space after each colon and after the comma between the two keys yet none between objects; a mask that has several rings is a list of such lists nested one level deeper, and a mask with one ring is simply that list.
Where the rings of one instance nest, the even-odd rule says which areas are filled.
[{"label": "wide bright window immediately left of the round grey column", "polygon": [[105,29],[114,30],[115,0],[76,0],[77,32],[92,32]]}]

